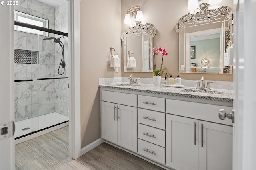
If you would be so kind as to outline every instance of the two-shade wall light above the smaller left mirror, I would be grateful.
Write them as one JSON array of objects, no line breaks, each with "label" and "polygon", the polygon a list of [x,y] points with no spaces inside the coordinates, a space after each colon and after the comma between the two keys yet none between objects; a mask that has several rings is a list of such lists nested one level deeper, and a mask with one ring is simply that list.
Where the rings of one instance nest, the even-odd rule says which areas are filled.
[{"label": "two-shade wall light above the smaller left mirror", "polygon": [[124,24],[131,24],[131,14],[132,14],[132,19],[136,18],[136,21],[143,21],[143,13],[140,10],[139,6],[135,6],[127,10],[127,14],[125,14],[124,18]]}]

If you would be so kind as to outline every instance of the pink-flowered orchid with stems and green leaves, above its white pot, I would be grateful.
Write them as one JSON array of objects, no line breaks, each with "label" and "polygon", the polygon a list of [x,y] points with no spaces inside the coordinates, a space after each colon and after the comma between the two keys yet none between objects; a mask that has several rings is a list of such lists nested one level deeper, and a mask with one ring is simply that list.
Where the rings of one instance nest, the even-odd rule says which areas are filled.
[{"label": "pink-flowered orchid with stems and green leaves, above its white pot", "polygon": [[[152,53],[154,56],[153,76],[162,76],[164,70],[166,69],[166,67],[163,67],[164,56],[167,56],[168,53],[165,51],[164,48],[162,49],[161,47],[153,48]],[[162,55],[162,63],[160,69],[156,70],[156,55],[158,55],[158,53]]]}]

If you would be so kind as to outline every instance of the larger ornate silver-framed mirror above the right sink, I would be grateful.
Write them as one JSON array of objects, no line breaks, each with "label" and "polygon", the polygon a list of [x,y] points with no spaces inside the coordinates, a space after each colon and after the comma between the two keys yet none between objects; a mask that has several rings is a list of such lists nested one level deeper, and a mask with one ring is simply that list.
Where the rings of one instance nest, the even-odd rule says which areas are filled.
[{"label": "larger ornate silver-framed mirror above the right sink", "polygon": [[209,7],[202,3],[199,12],[182,16],[175,26],[180,73],[232,73],[232,66],[224,64],[226,49],[232,45],[232,11],[228,6]]}]

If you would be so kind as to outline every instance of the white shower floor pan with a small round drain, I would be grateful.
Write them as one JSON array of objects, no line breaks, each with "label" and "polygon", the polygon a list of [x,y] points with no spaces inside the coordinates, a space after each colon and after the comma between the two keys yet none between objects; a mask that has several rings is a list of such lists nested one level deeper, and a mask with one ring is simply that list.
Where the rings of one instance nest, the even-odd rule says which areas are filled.
[{"label": "white shower floor pan with a small round drain", "polygon": [[[68,121],[68,117],[56,112],[42,115],[39,117],[34,117],[32,119],[17,121],[15,122],[14,137],[16,138],[22,135],[27,135],[33,131],[38,131],[40,129],[44,129],[46,127],[50,127],[64,121]],[[25,128],[26,130],[22,130]]]}]

